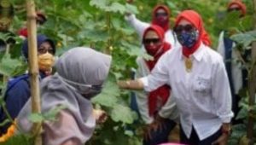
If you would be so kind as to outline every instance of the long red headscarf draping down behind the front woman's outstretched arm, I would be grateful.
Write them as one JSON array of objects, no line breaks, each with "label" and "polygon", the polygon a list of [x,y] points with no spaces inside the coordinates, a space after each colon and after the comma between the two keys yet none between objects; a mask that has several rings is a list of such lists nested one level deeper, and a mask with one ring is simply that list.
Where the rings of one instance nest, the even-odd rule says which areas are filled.
[{"label": "long red headscarf draping down behind the front woman's outstretched arm", "polygon": [[[165,32],[160,26],[149,26],[145,32],[143,33],[143,38],[145,38],[145,35],[147,34],[148,31],[154,31],[158,34],[160,38],[160,42],[162,42],[162,49],[154,55],[154,60],[153,61],[146,61],[148,68],[150,72],[154,68],[156,62],[159,60],[160,56],[166,53],[167,50],[171,49],[171,44],[168,44],[164,41],[165,39]],[[170,86],[169,85],[163,85],[159,87],[157,90],[151,91],[148,95],[148,110],[149,110],[149,115],[152,116],[154,113],[157,111],[157,102],[158,102],[158,97],[161,98],[163,101],[164,105],[168,97],[170,96]]]}]

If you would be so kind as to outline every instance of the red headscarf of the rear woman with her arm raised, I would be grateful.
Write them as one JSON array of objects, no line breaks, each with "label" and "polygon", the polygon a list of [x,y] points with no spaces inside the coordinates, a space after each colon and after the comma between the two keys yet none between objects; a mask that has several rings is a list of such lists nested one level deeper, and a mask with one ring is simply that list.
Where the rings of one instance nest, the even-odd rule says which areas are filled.
[{"label": "red headscarf of the rear woman with her arm raised", "polygon": [[[156,14],[156,12],[157,12],[157,10],[158,9],[165,9],[165,11],[166,11],[166,13],[167,13],[167,20],[166,20],[166,23],[160,23],[160,21],[158,21],[157,19],[156,19],[156,16],[155,16],[155,14]],[[169,30],[169,28],[170,28],[170,24],[169,24],[169,17],[170,17],[170,15],[171,15],[171,13],[170,13],[170,9],[168,9],[168,7],[166,7],[165,5],[157,5],[157,6],[155,6],[154,7],[154,9],[153,9],[153,11],[152,11],[152,24],[153,25],[157,25],[157,26],[160,26],[160,27],[162,27],[162,29],[164,29],[164,31],[165,32],[167,32],[168,30]]]}]

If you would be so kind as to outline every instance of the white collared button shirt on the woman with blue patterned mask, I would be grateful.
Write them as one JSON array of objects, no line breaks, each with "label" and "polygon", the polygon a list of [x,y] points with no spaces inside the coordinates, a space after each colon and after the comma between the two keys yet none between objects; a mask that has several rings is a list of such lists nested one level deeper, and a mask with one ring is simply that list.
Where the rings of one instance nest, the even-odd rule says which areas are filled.
[{"label": "white collared button shirt on the woman with blue patterned mask", "polygon": [[189,137],[194,126],[203,140],[233,117],[230,84],[223,58],[214,50],[201,44],[191,59],[193,67],[188,73],[182,48],[169,50],[152,73],[140,79],[146,91],[171,84],[183,131]]}]

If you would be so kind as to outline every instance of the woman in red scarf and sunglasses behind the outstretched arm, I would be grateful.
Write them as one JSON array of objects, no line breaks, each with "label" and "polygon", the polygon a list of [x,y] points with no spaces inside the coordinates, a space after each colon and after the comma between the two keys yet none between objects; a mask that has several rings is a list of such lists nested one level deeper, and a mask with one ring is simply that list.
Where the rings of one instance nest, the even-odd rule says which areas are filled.
[{"label": "woman in red scarf and sunglasses behind the outstretched arm", "polygon": [[[160,56],[172,48],[171,44],[164,41],[165,32],[160,26],[149,26],[143,34],[143,45],[148,55],[153,57],[153,60],[145,60],[143,57],[137,58],[137,78],[147,76],[154,68]],[[177,107],[171,96],[171,87],[168,84],[160,86],[157,90],[151,92],[137,92],[137,106],[143,122],[146,124],[144,145],[155,145],[168,142],[168,136],[176,123],[173,119],[178,118]],[[167,109],[164,107],[169,100]],[[167,112],[165,111],[167,110]],[[163,119],[163,129],[151,130],[154,125],[157,113],[161,113],[166,118]],[[170,117],[170,115],[172,115]],[[148,137],[149,136],[149,137]]]}]

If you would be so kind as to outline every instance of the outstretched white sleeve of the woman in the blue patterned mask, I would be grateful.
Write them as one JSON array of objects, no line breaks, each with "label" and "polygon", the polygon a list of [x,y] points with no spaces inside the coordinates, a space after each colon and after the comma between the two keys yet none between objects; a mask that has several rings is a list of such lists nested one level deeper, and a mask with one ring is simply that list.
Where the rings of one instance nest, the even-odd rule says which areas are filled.
[{"label": "outstretched white sleeve of the woman in the blue patterned mask", "polygon": [[168,75],[168,68],[170,68],[168,66],[168,52],[160,57],[160,60],[156,63],[153,71],[147,77],[139,79],[143,83],[144,90],[150,92],[164,84],[170,84]]}]

